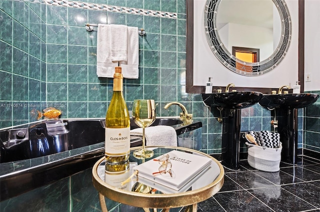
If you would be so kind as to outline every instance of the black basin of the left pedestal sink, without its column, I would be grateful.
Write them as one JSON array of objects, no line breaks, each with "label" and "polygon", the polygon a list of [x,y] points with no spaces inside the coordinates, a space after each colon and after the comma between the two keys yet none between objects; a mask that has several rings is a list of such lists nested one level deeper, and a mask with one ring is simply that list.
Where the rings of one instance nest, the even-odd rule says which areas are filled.
[{"label": "black basin of the left pedestal sink, without its column", "polygon": [[262,93],[253,91],[202,94],[202,100],[206,106],[227,109],[250,107],[256,104],[261,98]]}]

